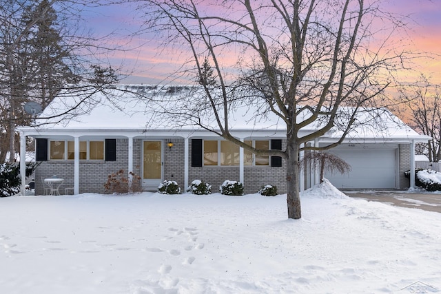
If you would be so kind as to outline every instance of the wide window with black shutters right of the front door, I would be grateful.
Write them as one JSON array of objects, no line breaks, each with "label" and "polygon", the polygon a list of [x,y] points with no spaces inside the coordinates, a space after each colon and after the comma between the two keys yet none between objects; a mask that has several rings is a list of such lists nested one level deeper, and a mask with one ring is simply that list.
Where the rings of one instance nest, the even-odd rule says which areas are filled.
[{"label": "wide window with black shutters right of the front door", "polygon": [[[256,149],[269,149],[269,140],[245,140]],[[238,166],[240,147],[228,140],[203,140],[204,166]],[[244,150],[244,165],[269,166],[269,156],[256,156]]]}]

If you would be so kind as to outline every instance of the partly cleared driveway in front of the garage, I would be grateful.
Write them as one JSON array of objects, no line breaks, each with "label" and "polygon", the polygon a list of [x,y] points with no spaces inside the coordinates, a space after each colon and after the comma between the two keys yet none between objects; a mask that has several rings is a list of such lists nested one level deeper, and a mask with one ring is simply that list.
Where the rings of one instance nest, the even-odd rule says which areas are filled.
[{"label": "partly cleared driveway in front of the garage", "polygon": [[351,198],[389,203],[398,207],[418,208],[441,213],[441,193],[409,191],[343,191]]}]

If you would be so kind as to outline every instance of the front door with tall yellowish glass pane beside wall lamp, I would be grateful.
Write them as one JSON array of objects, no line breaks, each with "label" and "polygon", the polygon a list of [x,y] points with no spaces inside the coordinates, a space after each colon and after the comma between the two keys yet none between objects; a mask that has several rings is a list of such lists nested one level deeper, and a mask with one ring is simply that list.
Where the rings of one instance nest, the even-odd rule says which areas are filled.
[{"label": "front door with tall yellowish glass pane beside wall lamp", "polygon": [[155,190],[162,182],[162,141],[143,141],[143,187]]}]

